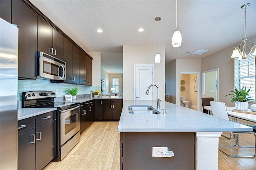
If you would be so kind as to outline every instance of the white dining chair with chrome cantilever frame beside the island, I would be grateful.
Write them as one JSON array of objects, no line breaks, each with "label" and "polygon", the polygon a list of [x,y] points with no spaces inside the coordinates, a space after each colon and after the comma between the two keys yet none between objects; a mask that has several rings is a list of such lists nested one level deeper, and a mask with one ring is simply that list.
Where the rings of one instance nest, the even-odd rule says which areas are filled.
[{"label": "white dining chair with chrome cantilever frame beside the island", "polygon": [[[215,102],[215,101],[210,101],[210,105],[212,108],[212,115],[215,117],[219,117],[221,119],[225,119],[229,121],[228,118],[228,112],[226,109],[226,105],[225,103],[222,102]],[[229,155],[225,152],[223,152],[222,150],[220,150],[220,152],[226,154],[226,156],[228,157],[246,157],[246,158],[255,158],[256,157],[256,126],[250,126],[253,128],[252,132],[231,132],[232,134],[234,134],[234,138],[235,138],[235,144],[234,145],[230,145],[230,146],[219,146],[220,148],[225,148],[225,147],[254,147],[255,148],[255,152],[254,155]],[[254,146],[241,146],[239,145],[239,134],[254,134]]]}]

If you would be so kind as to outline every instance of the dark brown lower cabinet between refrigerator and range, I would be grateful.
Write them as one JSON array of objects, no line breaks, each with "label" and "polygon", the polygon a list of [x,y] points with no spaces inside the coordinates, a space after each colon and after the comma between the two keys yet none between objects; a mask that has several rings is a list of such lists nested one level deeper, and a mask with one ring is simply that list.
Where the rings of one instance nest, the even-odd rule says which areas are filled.
[{"label": "dark brown lower cabinet between refrigerator and range", "polygon": [[18,121],[18,169],[41,170],[56,151],[55,111]]}]

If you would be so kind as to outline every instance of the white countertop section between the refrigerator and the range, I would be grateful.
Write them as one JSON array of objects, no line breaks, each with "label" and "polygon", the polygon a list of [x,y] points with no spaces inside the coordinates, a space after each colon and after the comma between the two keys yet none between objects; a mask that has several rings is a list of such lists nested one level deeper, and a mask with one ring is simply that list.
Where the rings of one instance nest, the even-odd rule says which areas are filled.
[{"label": "white countertop section between the refrigerator and the range", "polygon": [[18,121],[56,110],[57,108],[18,108]]}]

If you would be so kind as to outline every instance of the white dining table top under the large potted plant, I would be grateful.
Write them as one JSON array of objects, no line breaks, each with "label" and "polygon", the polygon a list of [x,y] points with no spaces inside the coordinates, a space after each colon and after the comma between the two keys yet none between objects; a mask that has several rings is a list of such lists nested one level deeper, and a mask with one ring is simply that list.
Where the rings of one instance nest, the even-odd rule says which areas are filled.
[{"label": "white dining table top under the large potted plant", "polygon": [[[228,116],[234,117],[235,119],[239,118],[239,119],[243,119],[243,120],[246,120],[246,121],[256,123],[256,115],[250,114],[250,112],[252,112],[250,109],[248,109],[248,111],[247,111],[248,113],[240,113],[240,112],[233,112],[232,111],[232,110],[236,109],[235,107],[227,106],[226,108],[227,108]],[[211,106],[204,106],[204,109],[206,109],[208,111],[212,111]]]}]

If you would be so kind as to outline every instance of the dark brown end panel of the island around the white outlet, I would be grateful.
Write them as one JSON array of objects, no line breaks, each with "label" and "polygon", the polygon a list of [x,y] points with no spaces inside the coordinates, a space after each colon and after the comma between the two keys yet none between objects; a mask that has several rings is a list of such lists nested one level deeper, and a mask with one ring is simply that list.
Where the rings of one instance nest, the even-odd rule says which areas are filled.
[{"label": "dark brown end panel of the island around the white outlet", "polygon": [[[173,157],[152,157],[152,147],[168,147]],[[195,170],[194,132],[121,132],[121,170]]]}]

